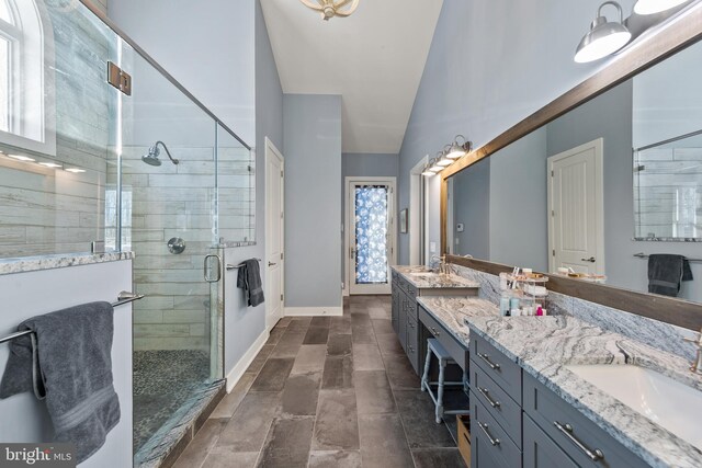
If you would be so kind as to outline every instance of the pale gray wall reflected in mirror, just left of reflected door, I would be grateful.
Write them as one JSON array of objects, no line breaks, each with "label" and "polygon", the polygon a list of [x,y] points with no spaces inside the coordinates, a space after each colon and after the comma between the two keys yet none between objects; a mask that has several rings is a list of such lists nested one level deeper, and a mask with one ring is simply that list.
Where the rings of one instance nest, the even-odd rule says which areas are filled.
[{"label": "pale gray wall reflected in mirror, just left of reflected door", "polygon": [[546,129],[503,148],[490,160],[490,260],[548,270]]}]

